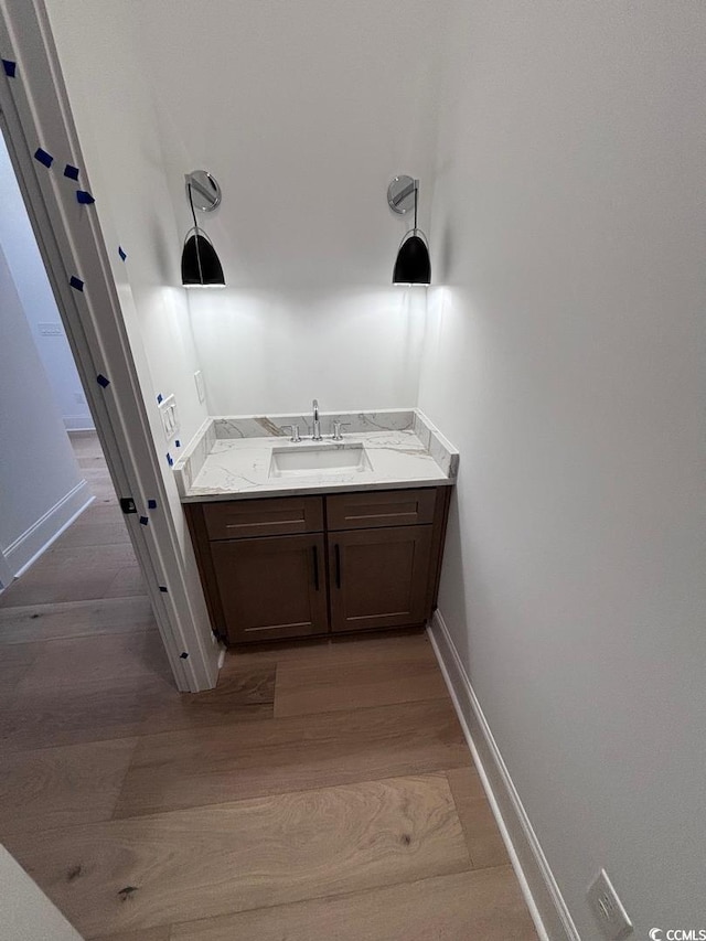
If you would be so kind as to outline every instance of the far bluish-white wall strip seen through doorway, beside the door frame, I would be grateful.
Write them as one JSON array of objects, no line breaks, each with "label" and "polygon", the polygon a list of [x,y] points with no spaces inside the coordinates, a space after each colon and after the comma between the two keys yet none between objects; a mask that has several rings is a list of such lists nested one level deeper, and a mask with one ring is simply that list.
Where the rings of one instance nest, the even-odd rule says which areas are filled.
[{"label": "far bluish-white wall strip seen through doorway, beside the door frame", "polygon": [[[0,205],[0,247],[12,272],[64,425],[68,429],[93,428],[93,418],[2,135]],[[54,327],[58,333],[44,335],[46,325]]]}]

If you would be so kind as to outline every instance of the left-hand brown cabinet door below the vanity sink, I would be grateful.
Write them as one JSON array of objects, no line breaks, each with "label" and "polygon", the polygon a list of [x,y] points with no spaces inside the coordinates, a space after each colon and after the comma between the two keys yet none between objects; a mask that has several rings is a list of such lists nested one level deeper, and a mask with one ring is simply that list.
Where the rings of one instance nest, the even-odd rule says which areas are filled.
[{"label": "left-hand brown cabinet door below the vanity sink", "polygon": [[211,544],[231,643],[328,631],[323,536]]}]

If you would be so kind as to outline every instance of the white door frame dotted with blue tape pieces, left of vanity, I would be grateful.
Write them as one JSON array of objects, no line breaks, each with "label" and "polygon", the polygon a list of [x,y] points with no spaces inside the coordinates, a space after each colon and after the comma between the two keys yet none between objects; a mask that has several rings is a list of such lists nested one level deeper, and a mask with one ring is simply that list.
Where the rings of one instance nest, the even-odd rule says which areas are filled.
[{"label": "white door frame dotted with blue tape pieces, left of vanity", "polygon": [[118,498],[137,506],[125,522],[174,680],[181,691],[208,689],[221,651],[199,579],[190,577],[190,546],[184,557],[170,510],[136,367],[145,352],[128,339],[95,211],[77,207],[76,184],[61,169],[47,172],[34,159],[38,147],[51,150],[57,163],[61,157],[62,164],[82,168],[90,191],[43,0],[0,0],[0,56],[15,64],[13,75],[0,68],[1,130],[113,483]]}]

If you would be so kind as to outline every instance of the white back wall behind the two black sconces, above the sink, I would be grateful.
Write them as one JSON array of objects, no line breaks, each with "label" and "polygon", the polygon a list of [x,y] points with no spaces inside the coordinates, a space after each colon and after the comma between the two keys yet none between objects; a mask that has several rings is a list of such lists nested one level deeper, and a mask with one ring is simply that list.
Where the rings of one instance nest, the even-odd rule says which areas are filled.
[{"label": "white back wall behind the two black sconces, above the sink", "polygon": [[[391,285],[409,220],[389,180],[421,179],[429,218],[440,10],[424,0],[190,0],[129,7],[183,239],[184,173],[223,188],[200,214],[228,288],[192,291],[213,414],[414,405],[421,323]],[[416,301],[419,306],[419,301]]]}]

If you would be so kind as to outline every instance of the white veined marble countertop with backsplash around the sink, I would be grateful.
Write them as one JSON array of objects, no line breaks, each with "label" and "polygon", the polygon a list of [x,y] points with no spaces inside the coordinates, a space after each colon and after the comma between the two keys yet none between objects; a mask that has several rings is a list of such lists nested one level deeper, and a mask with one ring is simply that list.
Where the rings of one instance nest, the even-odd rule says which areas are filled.
[{"label": "white veined marble countertop with backsplash around the sink", "polygon": [[[322,414],[323,441],[303,437],[310,435],[310,429],[306,418],[299,416],[302,440],[290,442],[284,427],[296,420],[297,416],[208,419],[174,466],[182,502],[440,486],[456,482],[458,452],[417,409]],[[352,429],[346,429],[343,441],[331,439],[329,429],[333,420],[342,420]],[[361,446],[367,460],[360,470],[342,468],[276,475],[272,469],[274,452]]]}]

